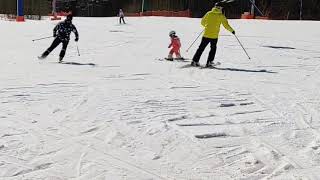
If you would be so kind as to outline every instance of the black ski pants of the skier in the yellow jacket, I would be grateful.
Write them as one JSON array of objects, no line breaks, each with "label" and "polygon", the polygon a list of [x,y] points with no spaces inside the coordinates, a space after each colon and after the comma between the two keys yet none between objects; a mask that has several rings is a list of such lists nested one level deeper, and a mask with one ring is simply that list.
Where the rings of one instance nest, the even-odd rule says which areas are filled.
[{"label": "black ski pants of the skier in the yellow jacket", "polygon": [[214,57],[216,56],[218,39],[211,39],[211,38],[206,38],[206,37],[202,37],[200,46],[199,46],[196,54],[194,54],[194,56],[192,58],[192,61],[199,62],[203,51],[205,50],[205,48],[207,47],[207,45],[209,43],[210,43],[211,49],[210,49],[210,52],[209,52],[207,64],[210,63],[210,62],[213,62]]}]

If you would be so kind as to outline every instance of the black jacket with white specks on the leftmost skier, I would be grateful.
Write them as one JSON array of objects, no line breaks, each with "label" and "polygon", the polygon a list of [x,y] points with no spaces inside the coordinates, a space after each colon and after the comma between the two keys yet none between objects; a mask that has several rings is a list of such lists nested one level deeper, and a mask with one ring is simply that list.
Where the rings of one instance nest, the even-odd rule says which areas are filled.
[{"label": "black jacket with white specks on the leftmost skier", "polygon": [[62,21],[53,29],[53,36],[58,37],[61,41],[69,41],[71,32],[75,34],[76,39],[79,39],[77,28],[72,23]]}]

